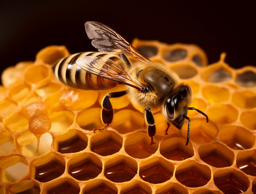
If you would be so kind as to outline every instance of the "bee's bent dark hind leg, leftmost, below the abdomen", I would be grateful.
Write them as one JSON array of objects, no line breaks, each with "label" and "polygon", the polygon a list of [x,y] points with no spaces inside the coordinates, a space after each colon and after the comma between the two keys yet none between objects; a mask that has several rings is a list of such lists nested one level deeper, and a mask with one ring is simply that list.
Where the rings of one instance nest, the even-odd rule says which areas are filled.
[{"label": "bee's bent dark hind leg, leftmost, below the abdomen", "polygon": [[108,127],[108,125],[112,122],[113,119],[113,108],[110,103],[110,98],[118,98],[121,96],[124,96],[126,94],[126,91],[117,91],[117,92],[112,92],[109,93],[107,96],[105,96],[103,103],[102,103],[102,112],[101,112],[101,118],[102,122],[106,124],[102,128],[94,128],[93,131],[95,132],[96,130],[103,131]]}]

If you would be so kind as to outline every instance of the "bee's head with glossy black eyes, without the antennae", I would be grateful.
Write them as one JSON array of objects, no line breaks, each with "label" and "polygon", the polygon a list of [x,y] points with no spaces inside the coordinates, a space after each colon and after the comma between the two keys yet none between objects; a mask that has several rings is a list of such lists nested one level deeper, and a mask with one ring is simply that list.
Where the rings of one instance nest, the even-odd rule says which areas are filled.
[{"label": "bee's head with glossy black eyes, without the antennae", "polygon": [[178,129],[182,128],[184,117],[186,116],[188,106],[192,100],[192,90],[187,84],[180,84],[170,92],[171,96],[167,98],[162,112],[168,123],[173,123]]}]

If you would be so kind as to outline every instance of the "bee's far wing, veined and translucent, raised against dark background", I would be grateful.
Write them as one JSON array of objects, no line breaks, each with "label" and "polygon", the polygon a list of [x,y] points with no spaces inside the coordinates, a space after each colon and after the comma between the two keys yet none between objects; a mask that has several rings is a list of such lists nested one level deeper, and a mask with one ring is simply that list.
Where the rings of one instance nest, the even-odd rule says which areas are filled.
[{"label": "bee's far wing, veined and translucent, raised against dark background", "polygon": [[119,33],[106,25],[99,22],[85,22],[85,31],[88,37],[92,39],[92,46],[100,52],[126,54],[142,62],[150,61],[127,40],[120,36]]}]

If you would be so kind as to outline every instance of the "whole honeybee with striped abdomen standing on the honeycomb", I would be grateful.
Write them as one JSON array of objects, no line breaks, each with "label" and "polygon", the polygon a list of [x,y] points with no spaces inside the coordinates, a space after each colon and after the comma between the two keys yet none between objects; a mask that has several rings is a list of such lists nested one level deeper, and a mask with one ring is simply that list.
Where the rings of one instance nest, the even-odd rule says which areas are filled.
[{"label": "whole honeybee with striped abdomen standing on the honeycomb", "polygon": [[[92,46],[99,52],[85,52],[71,55],[59,61],[54,67],[55,76],[64,84],[79,89],[111,89],[123,84],[124,91],[111,92],[102,103],[101,118],[106,129],[113,118],[110,98],[127,95],[135,107],[140,107],[147,125],[150,143],[156,132],[153,111],[161,110],[166,119],[167,135],[170,123],[181,129],[188,120],[186,145],[189,143],[190,123],[187,110],[202,111],[189,107],[192,101],[191,87],[180,83],[179,76],[160,62],[150,61],[119,33],[99,22],[85,22],[85,31],[92,39]],[[130,63],[132,56],[137,62]]]}]

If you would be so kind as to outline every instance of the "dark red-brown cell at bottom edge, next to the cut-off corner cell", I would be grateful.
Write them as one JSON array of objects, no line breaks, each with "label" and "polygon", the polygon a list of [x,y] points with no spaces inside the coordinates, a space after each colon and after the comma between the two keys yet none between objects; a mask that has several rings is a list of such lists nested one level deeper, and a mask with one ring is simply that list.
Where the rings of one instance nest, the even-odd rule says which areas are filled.
[{"label": "dark red-brown cell at bottom edge, next to the cut-off corner cell", "polygon": [[214,173],[213,181],[223,193],[232,194],[243,193],[250,185],[249,179],[242,172],[228,168]]}]

